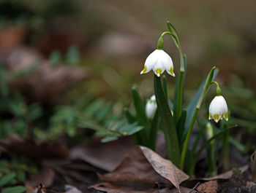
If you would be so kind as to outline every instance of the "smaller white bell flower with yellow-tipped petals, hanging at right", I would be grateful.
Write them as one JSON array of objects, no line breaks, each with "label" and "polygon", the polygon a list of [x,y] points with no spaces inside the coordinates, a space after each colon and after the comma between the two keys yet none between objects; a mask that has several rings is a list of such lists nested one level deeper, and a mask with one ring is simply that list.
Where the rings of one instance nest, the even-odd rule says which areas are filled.
[{"label": "smaller white bell flower with yellow-tipped petals, hanging at right", "polygon": [[209,106],[209,119],[214,119],[215,122],[219,122],[219,119],[226,119],[227,117],[227,103],[222,95],[217,95]]}]

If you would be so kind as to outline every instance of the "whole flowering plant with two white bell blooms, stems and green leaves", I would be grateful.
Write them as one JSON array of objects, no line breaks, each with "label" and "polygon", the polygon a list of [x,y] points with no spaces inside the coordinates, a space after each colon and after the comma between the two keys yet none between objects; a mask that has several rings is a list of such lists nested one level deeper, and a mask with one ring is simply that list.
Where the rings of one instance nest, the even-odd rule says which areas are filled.
[{"label": "whole flowering plant with two white bell blooms, stems and green leaves", "polygon": [[[155,138],[157,130],[160,128],[165,133],[165,143],[167,149],[167,157],[182,170],[189,170],[189,175],[192,176],[194,173],[195,163],[208,144],[217,136],[223,133],[228,133],[231,127],[225,127],[219,130],[218,133],[209,138],[199,151],[195,149],[188,149],[189,139],[192,133],[195,120],[197,118],[197,113],[208,92],[211,84],[216,84],[216,97],[211,102],[209,108],[209,119],[214,119],[215,122],[219,122],[219,119],[225,118],[227,116],[227,103],[221,95],[221,89],[217,82],[214,82],[215,76],[217,76],[217,70],[214,66],[208,73],[208,76],[204,82],[197,89],[192,100],[188,103],[187,107],[184,107],[184,79],[186,77],[187,69],[187,58],[186,55],[182,53],[181,42],[179,40],[178,32],[176,29],[167,22],[168,31],[162,33],[157,42],[157,50],[148,55],[143,71],[140,74],[148,73],[151,69],[154,71],[154,94],[156,95],[157,101],[157,112],[153,121],[150,121],[146,117],[145,103],[140,99],[138,91],[135,87],[132,88],[133,101],[135,104],[136,115],[132,116],[127,112],[127,118],[129,122],[138,121],[139,125],[144,127],[144,130],[136,134],[136,141],[148,147],[153,147],[155,144]],[[180,70],[178,73],[178,80],[176,81],[176,89],[174,93],[173,106],[170,105],[168,95],[167,95],[167,83],[165,77],[161,81],[160,75],[167,71],[168,74],[175,76],[173,72],[173,62],[169,55],[162,50],[164,40],[163,37],[168,34],[172,37],[174,44],[178,48],[180,56]],[[157,121],[156,121],[157,120]],[[155,124],[157,127],[155,127]],[[151,132],[154,133],[154,140],[151,140]],[[224,137],[225,141],[228,141],[228,135]],[[227,146],[227,143],[223,143]],[[228,148],[228,147],[227,147]],[[189,158],[189,159],[188,159]],[[186,168],[184,168],[186,162]]]}]

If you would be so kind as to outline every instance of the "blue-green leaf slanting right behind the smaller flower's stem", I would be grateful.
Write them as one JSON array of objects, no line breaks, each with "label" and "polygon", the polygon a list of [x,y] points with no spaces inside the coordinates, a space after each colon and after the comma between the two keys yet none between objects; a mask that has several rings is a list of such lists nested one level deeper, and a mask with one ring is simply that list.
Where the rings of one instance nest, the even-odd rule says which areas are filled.
[{"label": "blue-green leaf slanting right behind the smaller flower's stem", "polygon": [[[215,77],[218,74],[218,70],[216,69],[214,71],[214,75],[211,79],[211,81],[213,81],[215,79]],[[186,123],[185,123],[185,128],[186,131],[184,133],[184,136],[187,135],[187,130],[189,130],[189,125],[190,122],[192,121],[192,118],[195,114],[196,108],[197,108],[197,103],[200,100],[200,96],[202,95],[203,92],[203,88],[206,85],[206,80],[208,77],[206,77],[206,79],[204,80],[204,82],[202,82],[202,84],[200,84],[200,87],[198,87],[197,92],[195,92],[194,97],[192,98],[192,100],[189,102],[188,106],[187,106],[187,118],[186,118]],[[208,90],[206,91],[206,93],[208,92]],[[205,94],[206,95],[206,94]]]}]

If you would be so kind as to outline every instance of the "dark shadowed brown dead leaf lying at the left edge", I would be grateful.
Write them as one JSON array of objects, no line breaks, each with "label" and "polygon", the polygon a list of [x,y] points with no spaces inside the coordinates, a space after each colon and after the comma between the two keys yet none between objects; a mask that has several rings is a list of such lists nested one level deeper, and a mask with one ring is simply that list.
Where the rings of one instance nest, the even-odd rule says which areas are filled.
[{"label": "dark shadowed brown dead leaf lying at the left edge", "polygon": [[53,159],[69,156],[69,149],[63,143],[26,140],[15,134],[9,135],[7,140],[0,140],[0,145],[12,153],[32,159]]}]

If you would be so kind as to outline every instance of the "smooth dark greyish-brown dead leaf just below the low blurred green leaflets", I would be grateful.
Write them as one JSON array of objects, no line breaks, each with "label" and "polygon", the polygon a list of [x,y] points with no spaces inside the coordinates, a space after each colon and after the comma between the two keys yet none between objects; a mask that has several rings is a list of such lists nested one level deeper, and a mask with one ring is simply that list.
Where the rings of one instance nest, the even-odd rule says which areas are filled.
[{"label": "smooth dark greyish-brown dead leaf just below the low blurred green leaflets", "polygon": [[100,140],[96,138],[86,146],[76,146],[71,149],[70,158],[82,159],[103,170],[113,171],[132,147],[132,139],[125,137],[108,143],[101,143]]}]

